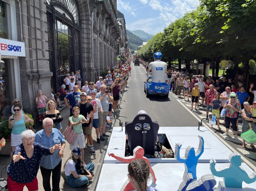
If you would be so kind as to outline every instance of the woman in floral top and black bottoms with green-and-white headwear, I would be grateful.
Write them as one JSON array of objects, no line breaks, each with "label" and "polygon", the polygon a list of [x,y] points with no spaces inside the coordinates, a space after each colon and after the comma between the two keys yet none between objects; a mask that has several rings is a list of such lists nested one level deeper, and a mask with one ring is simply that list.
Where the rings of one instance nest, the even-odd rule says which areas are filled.
[{"label": "woman in floral top and black bottoms with green-and-white headwear", "polygon": [[240,106],[239,106],[239,103],[235,101],[237,99],[235,93],[231,93],[229,98],[230,100],[227,100],[225,105],[223,106],[223,109],[226,109],[226,114],[225,114],[226,132],[223,133],[222,135],[224,136],[229,135],[229,125],[231,123],[231,127],[235,133],[234,140],[236,140],[238,138],[236,120],[237,120],[237,112],[239,112]]}]

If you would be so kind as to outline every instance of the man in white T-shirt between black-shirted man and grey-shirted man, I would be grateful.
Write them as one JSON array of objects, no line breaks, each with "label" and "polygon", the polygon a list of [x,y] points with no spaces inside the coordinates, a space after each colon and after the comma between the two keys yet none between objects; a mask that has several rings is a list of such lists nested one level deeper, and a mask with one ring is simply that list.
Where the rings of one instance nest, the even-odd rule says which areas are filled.
[{"label": "man in white T-shirt between black-shirted man and grey-shirted man", "polygon": [[95,128],[96,131],[96,136],[97,136],[97,143],[100,144],[101,140],[100,140],[100,131],[99,131],[99,114],[98,112],[100,112],[101,114],[103,114],[103,109],[101,106],[101,101],[99,99],[96,99],[96,94],[97,91],[92,91],[91,92],[91,103],[93,107],[97,107],[97,111],[95,113],[93,113],[93,122],[92,122],[92,126]]}]

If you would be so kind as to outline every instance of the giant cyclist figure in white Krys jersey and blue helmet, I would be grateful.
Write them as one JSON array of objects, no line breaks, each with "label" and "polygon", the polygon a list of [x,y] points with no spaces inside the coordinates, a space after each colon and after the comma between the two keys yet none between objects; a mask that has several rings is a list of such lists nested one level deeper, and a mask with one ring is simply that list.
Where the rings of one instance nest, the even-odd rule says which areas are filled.
[{"label": "giant cyclist figure in white Krys jersey and blue helmet", "polygon": [[154,62],[149,63],[146,75],[149,75],[149,71],[152,70],[152,82],[165,83],[165,72],[167,71],[167,64],[162,62],[162,53],[156,52],[154,55]]}]

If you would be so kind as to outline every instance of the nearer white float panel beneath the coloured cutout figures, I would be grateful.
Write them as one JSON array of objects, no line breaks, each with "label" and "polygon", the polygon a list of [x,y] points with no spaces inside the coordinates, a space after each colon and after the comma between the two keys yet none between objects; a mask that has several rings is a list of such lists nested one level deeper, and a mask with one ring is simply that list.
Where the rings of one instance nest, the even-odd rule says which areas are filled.
[{"label": "nearer white float panel beneath the coloured cutout figures", "polygon": [[[156,184],[151,180],[148,185],[159,189],[160,191],[177,191],[182,177],[184,174],[184,164],[181,163],[150,163],[152,169],[155,172]],[[227,163],[217,163],[216,168],[229,165]],[[249,168],[245,163],[242,163],[241,167],[251,175],[253,170]],[[123,184],[127,180],[128,164],[103,164],[101,169],[101,175],[97,184],[96,191],[120,191]],[[211,174],[209,163],[197,164],[197,178],[201,178],[202,175]],[[223,178],[216,177],[216,185],[218,187],[219,181],[223,181]],[[256,191],[256,182],[252,184],[246,184],[243,182],[243,189],[226,188],[225,191]]]}]

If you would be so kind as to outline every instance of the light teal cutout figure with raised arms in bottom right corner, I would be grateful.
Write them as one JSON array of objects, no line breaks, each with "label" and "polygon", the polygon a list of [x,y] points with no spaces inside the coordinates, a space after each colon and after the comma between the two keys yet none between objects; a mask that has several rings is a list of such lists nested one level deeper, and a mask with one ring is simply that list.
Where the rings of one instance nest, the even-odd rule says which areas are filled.
[{"label": "light teal cutout figure with raised arms in bottom right corner", "polygon": [[210,160],[210,170],[214,176],[223,177],[226,188],[243,188],[243,181],[251,184],[256,181],[256,171],[248,176],[243,168],[241,168],[241,156],[237,153],[229,155],[230,165],[215,169],[215,160]]}]

